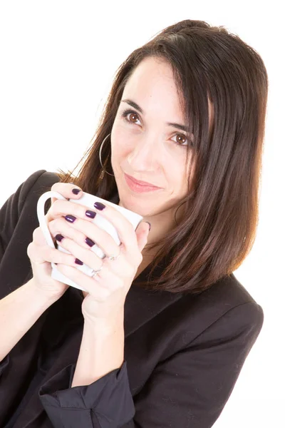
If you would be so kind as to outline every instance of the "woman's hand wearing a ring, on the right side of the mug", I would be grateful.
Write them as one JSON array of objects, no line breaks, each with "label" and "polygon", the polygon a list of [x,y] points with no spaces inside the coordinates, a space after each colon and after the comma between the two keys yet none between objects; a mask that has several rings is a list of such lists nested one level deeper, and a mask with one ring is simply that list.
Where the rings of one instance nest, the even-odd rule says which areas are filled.
[{"label": "woman's hand wearing a ring, on the right side of the mug", "polygon": [[[58,201],[58,203],[60,202]],[[91,223],[89,219],[84,220],[87,207],[69,203],[71,204],[69,214],[76,217],[76,220],[68,223],[69,228],[60,231],[64,239],[58,243],[93,270],[99,270],[100,267],[102,269],[94,277],[89,277],[76,267],[58,264],[57,268],[63,275],[81,285],[88,292],[82,304],[85,320],[95,324],[115,322],[116,316],[123,312],[125,297],[142,262],[141,252],[147,243],[149,225],[141,222],[134,230],[129,220],[112,206],[106,204],[103,210],[94,208],[95,212],[100,213],[114,225],[121,241],[118,246],[105,230]],[[66,220],[64,221],[66,222]],[[51,223],[51,234],[53,234],[52,229],[55,229],[56,235],[59,230],[56,229],[56,225],[52,226]],[[68,230],[70,230],[69,235]],[[90,248],[84,248],[88,245],[81,243],[81,240],[86,237],[93,240],[103,250],[106,255],[104,259],[95,255]],[[79,242],[76,242],[76,238]],[[111,255],[118,256],[118,258],[109,260],[108,257]]]}]

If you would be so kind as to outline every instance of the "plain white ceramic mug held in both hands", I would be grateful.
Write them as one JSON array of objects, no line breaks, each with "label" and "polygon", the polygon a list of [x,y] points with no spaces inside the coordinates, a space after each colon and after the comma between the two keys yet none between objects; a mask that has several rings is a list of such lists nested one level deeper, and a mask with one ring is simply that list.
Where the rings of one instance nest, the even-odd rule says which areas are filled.
[{"label": "plain white ceramic mug held in both hands", "polygon": [[[46,223],[46,217],[44,213],[45,203],[46,203],[46,200],[48,200],[49,198],[56,198],[56,199],[63,199],[63,200],[68,200],[68,199],[64,198],[64,196],[61,195],[61,193],[54,192],[52,190],[46,193],[43,193],[43,195],[41,195],[40,198],[38,198],[38,204],[37,204],[38,223],[41,227],[41,230],[43,231],[44,237],[46,238],[46,243],[50,245],[52,248],[56,248],[53,243],[53,238],[51,237],[51,233],[48,229],[48,225]],[[73,203],[84,205],[91,210],[94,208],[94,203],[97,201],[102,202],[105,205],[111,205],[120,213],[125,215],[125,218],[127,218],[130,221],[130,223],[133,225],[134,230],[138,227],[138,224],[143,218],[141,215],[134,213],[131,210],[127,210],[126,208],[120,207],[119,205],[109,202],[108,200],[98,198],[98,196],[90,195],[90,193],[83,192],[83,195],[81,196],[80,199],[70,198],[69,200]],[[97,212],[97,214],[95,215],[95,218],[92,219],[92,222],[95,225],[98,225],[98,227],[100,227],[101,229],[105,230],[107,233],[109,233],[109,235],[111,235],[112,238],[115,240],[115,243],[117,245],[120,245],[120,239],[119,239],[117,230],[115,229],[113,224],[110,223],[109,220],[103,217],[103,215],[100,215],[100,213]],[[63,253],[71,254],[65,248],[61,247],[61,245],[58,245],[57,249],[59,251],[63,251]],[[98,255],[98,257],[100,257],[101,259],[105,257],[105,253],[103,253],[101,248],[99,248],[98,245],[96,244],[93,245],[93,247],[91,247],[90,250],[93,251],[93,253],[95,253],[96,255]],[[81,270],[81,272],[85,273],[88,276],[91,276],[93,273],[93,269],[85,265],[84,263],[83,265],[76,266],[76,269]],[[51,277],[54,280],[58,280],[60,282],[63,282],[64,284],[71,285],[71,287],[76,287],[79,290],[86,291],[80,285],[76,284],[76,282],[69,279],[68,277],[63,275],[61,272],[59,272],[59,270],[56,268],[55,263],[51,263]]]}]

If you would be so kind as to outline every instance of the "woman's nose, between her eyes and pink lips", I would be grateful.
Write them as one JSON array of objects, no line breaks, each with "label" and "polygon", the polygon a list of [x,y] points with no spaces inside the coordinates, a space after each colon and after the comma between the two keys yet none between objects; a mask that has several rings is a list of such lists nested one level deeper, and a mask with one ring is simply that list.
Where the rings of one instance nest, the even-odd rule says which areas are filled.
[{"label": "woman's nose, between her eyes and pink lips", "polygon": [[128,163],[134,171],[156,170],[157,161],[162,157],[162,148],[157,135],[140,136],[135,140]]}]

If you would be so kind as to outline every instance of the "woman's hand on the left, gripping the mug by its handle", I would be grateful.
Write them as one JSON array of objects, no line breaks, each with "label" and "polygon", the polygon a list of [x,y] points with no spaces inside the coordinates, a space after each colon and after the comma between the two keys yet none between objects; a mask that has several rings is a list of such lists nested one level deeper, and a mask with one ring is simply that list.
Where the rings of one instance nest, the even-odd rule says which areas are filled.
[{"label": "woman's hand on the left, gripping the mug by its handle", "polygon": [[[61,195],[68,199],[80,199],[83,193],[79,192],[78,195],[75,195],[72,193],[73,188],[78,188],[78,186],[71,183],[56,183],[52,186],[51,190],[61,193]],[[51,205],[55,201],[56,198],[51,198]],[[48,213],[46,213],[45,217],[48,216]],[[51,248],[46,243],[46,238],[40,227],[33,230],[33,241],[28,244],[27,254],[31,260],[33,282],[36,289],[48,299],[58,300],[66,292],[69,285],[53,280],[51,277],[51,262],[71,265],[71,260],[73,261],[74,259],[73,256]]]}]

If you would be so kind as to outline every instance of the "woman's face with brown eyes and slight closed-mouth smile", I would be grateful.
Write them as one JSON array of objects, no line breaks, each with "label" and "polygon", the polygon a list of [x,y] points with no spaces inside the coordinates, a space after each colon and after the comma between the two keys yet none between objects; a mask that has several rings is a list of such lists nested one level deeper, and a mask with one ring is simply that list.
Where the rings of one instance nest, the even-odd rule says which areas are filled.
[{"label": "woman's face with brown eyes and slight closed-mouth smile", "polygon": [[[186,145],[192,136],[167,123],[185,126],[172,68],[145,58],[125,86],[111,133],[119,205],[144,217],[175,210],[187,194]],[[137,193],[125,173],[160,189]]]}]

